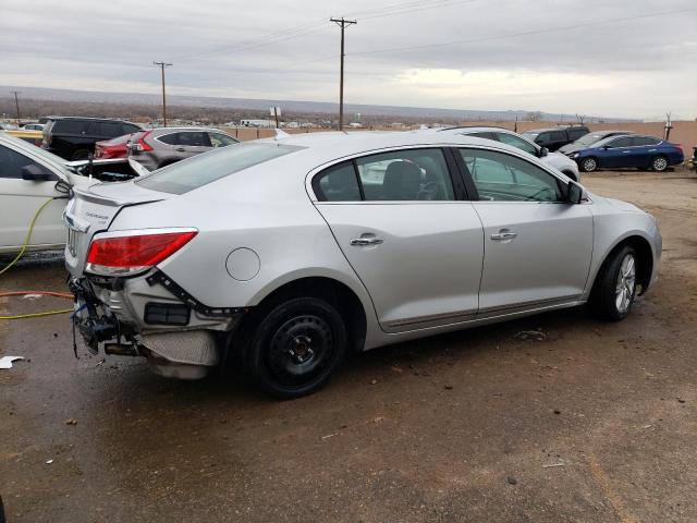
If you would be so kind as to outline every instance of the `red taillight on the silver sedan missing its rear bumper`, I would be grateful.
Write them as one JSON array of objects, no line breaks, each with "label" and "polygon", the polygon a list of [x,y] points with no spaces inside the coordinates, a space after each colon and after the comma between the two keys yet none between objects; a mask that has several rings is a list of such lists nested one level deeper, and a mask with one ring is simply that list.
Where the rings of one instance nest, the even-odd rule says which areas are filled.
[{"label": "red taillight on the silver sedan missing its rear bumper", "polygon": [[136,275],[170,257],[197,233],[194,229],[167,229],[98,234],[89,245],[85,270],[101,276]]}]

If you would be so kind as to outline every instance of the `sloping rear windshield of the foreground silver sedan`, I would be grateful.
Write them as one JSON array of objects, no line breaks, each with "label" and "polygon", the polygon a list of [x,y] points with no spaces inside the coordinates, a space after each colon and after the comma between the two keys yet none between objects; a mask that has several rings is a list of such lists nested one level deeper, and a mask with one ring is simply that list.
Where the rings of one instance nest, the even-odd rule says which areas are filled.
[{"label": "sloping rear windshield of the foreground silver sedan", "polygon": [[277,144],[240,144],[172,163],[138,180],[137,184],[171,194],[184,194],[243,169],[289,155],[302,147]]}]

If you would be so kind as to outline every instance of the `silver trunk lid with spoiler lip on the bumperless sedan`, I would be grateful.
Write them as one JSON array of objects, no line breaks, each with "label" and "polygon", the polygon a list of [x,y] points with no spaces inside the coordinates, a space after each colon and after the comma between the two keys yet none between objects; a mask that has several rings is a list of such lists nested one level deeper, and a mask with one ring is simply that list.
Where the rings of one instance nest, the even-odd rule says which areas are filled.
[{"label": "silver trunk lid with spoiler lip on the bumperless sedan", "polygon": [[140,187],[133,182],[99,183],[73,190],[74,196],[63,212],[63,222],[68,227],[65,266],[73,277],[83,273],[91,238],[107,231],[122,208],[174,196]]}]

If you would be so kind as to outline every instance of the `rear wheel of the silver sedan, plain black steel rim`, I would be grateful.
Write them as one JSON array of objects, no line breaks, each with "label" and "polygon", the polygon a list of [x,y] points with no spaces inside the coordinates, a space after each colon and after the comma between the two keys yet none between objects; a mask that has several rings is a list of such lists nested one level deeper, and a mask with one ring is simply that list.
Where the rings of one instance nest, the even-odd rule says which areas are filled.
[{"label": "rear wheel of the silver sedan, plain black steel rim", "polygon": [[341,366],[346,345],[346,327],[331,303],[293,297],[259,321],[245,350],[245,366],[267,394],[299,398],[329,380]]}]

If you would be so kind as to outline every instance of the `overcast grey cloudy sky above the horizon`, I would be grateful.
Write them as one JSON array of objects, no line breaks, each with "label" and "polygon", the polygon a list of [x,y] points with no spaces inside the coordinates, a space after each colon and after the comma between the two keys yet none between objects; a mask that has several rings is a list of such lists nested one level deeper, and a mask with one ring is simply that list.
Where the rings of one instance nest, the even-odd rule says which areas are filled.
[{"label": "overcast grey cloudy sky above the horizon", "polygon": [[0,0],[0,85],[697,117],[695,0]]}]

